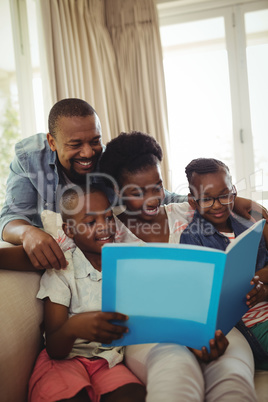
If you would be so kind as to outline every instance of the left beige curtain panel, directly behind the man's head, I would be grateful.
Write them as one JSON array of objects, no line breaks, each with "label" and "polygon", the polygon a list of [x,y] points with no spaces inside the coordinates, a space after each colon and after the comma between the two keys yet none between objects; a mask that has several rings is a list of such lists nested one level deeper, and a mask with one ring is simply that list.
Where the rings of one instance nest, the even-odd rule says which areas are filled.
[{"label": "left beige curtain panel, directly behind the man's head", "polygon": [[51,105],[78,97],[100,116],[103,142],[125,130],[118,70],[104,0],[38,0]]}]

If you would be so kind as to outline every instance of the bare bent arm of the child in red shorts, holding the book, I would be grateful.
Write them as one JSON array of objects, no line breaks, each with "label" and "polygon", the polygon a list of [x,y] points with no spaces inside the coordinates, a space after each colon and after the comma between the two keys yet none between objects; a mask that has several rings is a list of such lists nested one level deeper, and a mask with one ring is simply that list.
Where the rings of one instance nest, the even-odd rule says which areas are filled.
[{"label": "bare bent arm of the child in red shorts, holding the book", "polygon": [[127,327],[112,324],[111,320],[126,321],[120,313],[94,311],[68,318],[68,307],[45,299],[46,349],[52,359],[64,359],[77,338],[89,342],[111,343],[122,338]]}]

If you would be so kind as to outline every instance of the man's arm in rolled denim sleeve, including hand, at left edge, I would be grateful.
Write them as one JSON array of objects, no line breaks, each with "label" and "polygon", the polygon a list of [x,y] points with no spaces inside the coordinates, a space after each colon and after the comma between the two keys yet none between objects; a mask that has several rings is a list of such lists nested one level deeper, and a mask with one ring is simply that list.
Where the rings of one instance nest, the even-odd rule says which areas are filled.
[{"label": "man's arm in rolled denim sleeve, including hand, at left edge", "polygon": [[35,269],[65,268],[66,260],[56,241],[36,227],[42,226],[40,211],[45,207],[49,188],[45,186],[45,173],[29,172],[28,165],[23,145],[17,144],[0,216],[2,239],[22,245]]}]

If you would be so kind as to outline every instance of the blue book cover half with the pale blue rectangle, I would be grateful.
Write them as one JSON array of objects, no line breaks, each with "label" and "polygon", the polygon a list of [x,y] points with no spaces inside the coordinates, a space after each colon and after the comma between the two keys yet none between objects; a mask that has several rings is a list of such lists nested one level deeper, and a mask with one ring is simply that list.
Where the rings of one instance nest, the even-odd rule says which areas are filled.
[{"label": "blue book cover half with the pale blue rectangle", "polygon": [[226,254],[199,246],[103,248],[103,310],[129,316],[113,345],[175,342],[201,348],[214,337]]}]

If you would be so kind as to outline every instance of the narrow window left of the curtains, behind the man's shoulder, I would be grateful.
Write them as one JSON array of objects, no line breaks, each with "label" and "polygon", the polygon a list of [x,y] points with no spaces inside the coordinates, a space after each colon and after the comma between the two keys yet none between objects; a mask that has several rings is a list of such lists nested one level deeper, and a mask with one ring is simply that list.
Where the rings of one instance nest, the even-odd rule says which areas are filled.
[{"label": "narrow window left of the curtains, behind the man's shoulder", "polygon": [[0,1],[0,208],[14,146],[45,132],[34,0]]}]

